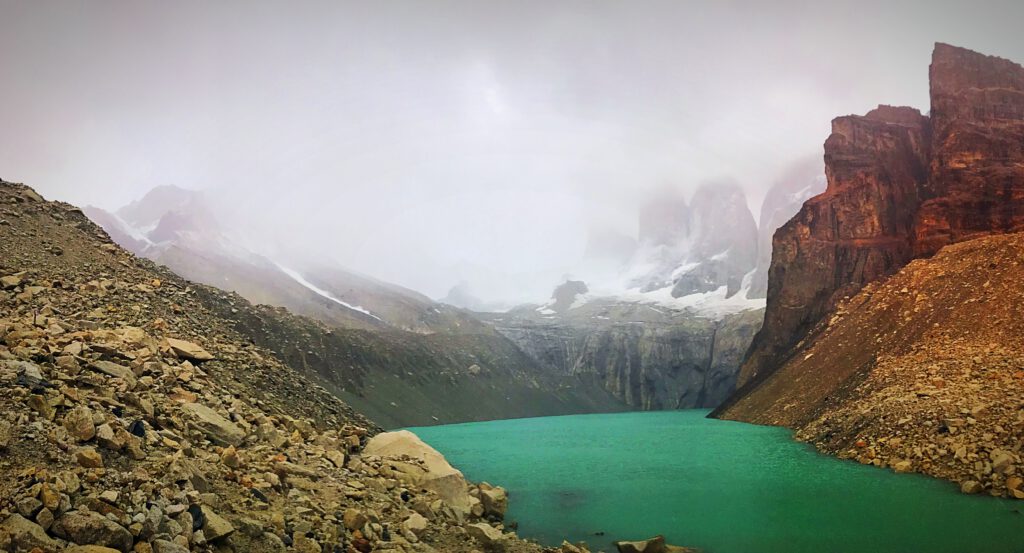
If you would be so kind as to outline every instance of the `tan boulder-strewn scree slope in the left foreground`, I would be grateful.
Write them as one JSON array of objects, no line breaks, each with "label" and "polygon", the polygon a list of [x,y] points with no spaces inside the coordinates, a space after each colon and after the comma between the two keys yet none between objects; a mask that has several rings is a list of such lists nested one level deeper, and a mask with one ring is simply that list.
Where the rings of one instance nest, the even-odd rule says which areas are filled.
[{"label": "tan boulder-strewn scree slope in the left foreground", "polygon": [[542,551],[201,292],[0,181],[0,551]]}]

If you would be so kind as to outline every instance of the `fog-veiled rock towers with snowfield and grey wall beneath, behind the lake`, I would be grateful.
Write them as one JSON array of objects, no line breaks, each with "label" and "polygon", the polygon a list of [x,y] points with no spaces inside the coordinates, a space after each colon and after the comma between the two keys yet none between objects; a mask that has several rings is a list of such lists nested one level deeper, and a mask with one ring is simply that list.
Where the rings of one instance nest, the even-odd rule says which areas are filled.
[{"label": "fog-veiled rock towers with snowfield and grey wall beneath, behind the lake", "polygon": [[480,316],[549,373],[599,384],[635,409],[715,407],[735,389],[763,315],[746,294],[757,227],[745,197],[708,184],[690,203],[659,196],[639,217],[638,248],[607,241],[634,250],[611,278],[598,271],[593,289],[566,281],[544,304]]}]

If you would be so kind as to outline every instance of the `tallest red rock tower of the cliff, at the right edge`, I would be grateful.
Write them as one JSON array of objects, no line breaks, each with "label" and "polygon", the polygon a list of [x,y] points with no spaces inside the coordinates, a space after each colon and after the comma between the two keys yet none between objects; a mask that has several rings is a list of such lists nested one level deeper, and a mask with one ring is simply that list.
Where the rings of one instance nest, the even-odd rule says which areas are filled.
[{"label": "tallest red rock tower of the cliff, at the right edge", "polygon": [[939,44],[931,67],[931,178],[914,253],[1024,229],[1024,69]]}]

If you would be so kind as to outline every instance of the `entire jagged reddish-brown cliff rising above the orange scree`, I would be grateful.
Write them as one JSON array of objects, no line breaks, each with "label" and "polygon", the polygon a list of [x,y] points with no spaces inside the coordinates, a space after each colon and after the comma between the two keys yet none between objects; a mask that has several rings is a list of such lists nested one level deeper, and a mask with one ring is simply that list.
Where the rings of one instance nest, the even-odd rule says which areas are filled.
[{"label": "entire jagged reddish-brown cliff rising above the orange scree", "polygon": [[765,324],[720,414],[865,284],[946,244],[1024,230],[1024,68],[937,44],[931,100],[931,118],[883,105],[833,121],[827,189],[775,233]]}]

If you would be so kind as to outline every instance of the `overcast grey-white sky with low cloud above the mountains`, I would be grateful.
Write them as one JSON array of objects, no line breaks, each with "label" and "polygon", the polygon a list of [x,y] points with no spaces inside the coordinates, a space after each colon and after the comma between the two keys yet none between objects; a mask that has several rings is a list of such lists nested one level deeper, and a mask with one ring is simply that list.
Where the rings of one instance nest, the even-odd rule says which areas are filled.
[{"label": "overcast grey-white sky with low cloud above the mountains", "polygon": [[833,117],[928,108],[936,41],[1024,61],[1022,2],[0,0],[0,176],[208,190],[281,248],[431,296],[550,290],[591,225],[732,178],[757,213]]}]

